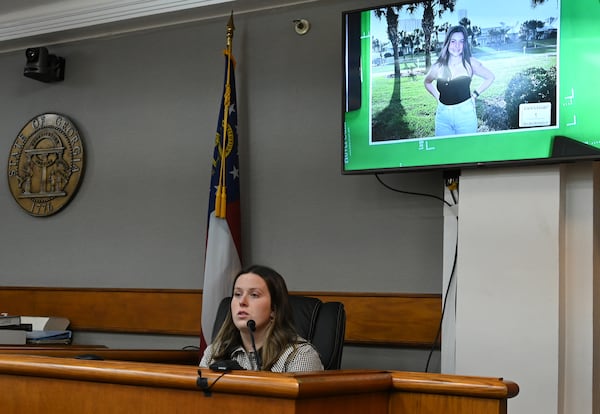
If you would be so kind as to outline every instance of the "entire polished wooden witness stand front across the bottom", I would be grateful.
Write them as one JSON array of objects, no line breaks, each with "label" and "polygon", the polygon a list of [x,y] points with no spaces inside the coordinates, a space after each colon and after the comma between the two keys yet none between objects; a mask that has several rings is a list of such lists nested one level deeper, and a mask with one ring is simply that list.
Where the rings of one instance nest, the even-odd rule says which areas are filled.
[{"label": "entire polished wooden witness stand front across the bottom", "polygon": [[0,354],[3,414],[503,414],[518,386],[497,378],[376,370],[276,374]]}]

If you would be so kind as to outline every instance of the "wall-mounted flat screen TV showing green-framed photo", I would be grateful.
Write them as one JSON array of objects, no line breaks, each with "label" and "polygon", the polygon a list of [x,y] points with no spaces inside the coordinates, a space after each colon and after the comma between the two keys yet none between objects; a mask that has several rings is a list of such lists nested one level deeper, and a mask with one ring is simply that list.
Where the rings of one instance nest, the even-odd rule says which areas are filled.
[{"label": "wall-mounted flat screen TV showing green-framed photo", "polygon": [[[600,159],[598,22],[591,0],[420,0],[343,12],[342,172]],[[466,35],[462,49],[450,45],[461,35],[444,47],[451,28]],[[476,126],[436,135],[436,122],[463,125],[452,111],[465,105]]]}]

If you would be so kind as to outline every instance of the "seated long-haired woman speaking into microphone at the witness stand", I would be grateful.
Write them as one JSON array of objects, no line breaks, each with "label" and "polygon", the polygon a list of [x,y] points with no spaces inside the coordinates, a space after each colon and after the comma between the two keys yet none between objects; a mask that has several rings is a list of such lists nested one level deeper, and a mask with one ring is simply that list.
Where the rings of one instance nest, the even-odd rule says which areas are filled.
[{"label": "seated long-haired woman speaking into microphone at the witness stand", "polygon": [[316,349],[294,328],[283,277],[266,266],[242,270],[233,282],[230,310],[201,367],[234,360],[247,370],[323,370]]}]

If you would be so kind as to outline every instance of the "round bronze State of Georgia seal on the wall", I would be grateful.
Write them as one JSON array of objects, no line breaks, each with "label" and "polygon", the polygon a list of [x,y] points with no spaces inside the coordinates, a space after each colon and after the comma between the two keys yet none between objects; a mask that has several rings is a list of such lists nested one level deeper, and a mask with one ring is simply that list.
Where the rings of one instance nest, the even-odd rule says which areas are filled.
[{"label": "round bronze State of Georgia seal on the wall", "polygon": [[84,170],[83,142],[64,115],[41,114],[15,138],[8,156],[8,186],[32,216],[60,211],[74,197]]}]

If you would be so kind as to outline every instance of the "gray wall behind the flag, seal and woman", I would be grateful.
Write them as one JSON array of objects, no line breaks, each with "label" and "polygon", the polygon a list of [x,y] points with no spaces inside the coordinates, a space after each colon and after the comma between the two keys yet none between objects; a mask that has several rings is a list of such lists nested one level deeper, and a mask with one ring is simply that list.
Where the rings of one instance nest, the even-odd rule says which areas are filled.
[{"label": "gray wall behind the flag, seal and woman", "polygon": [[[277,268],[290,290],[439,293],[441,202],[340,173],[341,11],[369,3],[235,17],[243,261]],[[311,21],[306,36],[297,18]],[[66,58],[56,84],[23,77],[24,51],[0,55],[5,157],[46,112],[78,125],[87,154],[79,193],[55,216],[29,216],[0,180],[0,284],[202,288],[226,21],[46,45]],[[383,179],[442,194],[439,173]],[[418,370],[426,352],[349,347],[345,358]]]}]

